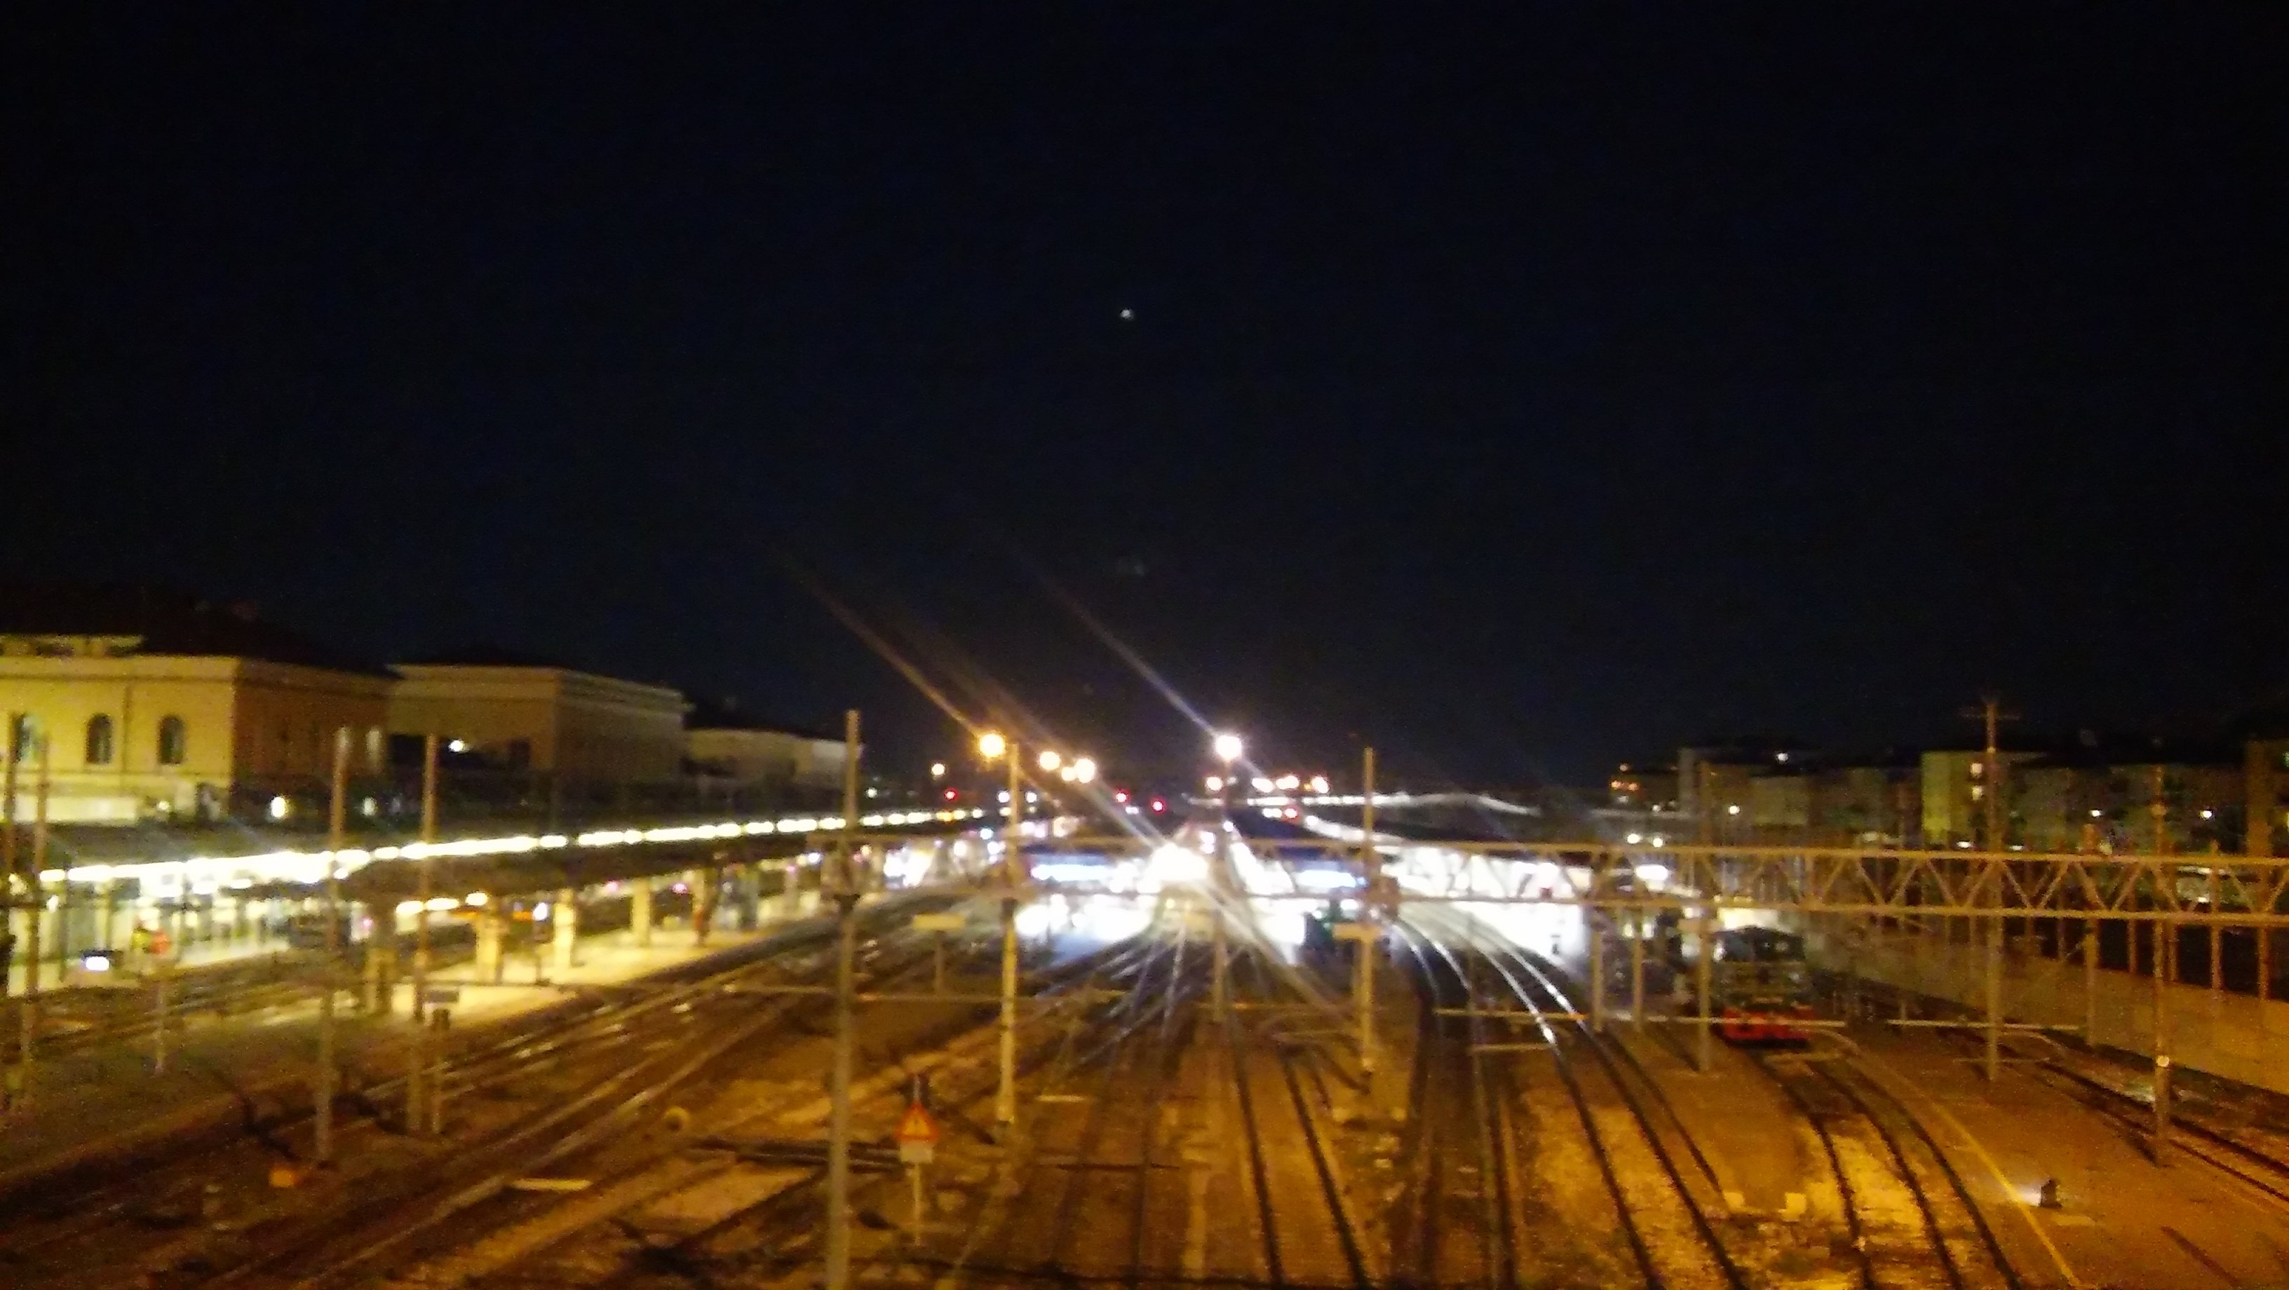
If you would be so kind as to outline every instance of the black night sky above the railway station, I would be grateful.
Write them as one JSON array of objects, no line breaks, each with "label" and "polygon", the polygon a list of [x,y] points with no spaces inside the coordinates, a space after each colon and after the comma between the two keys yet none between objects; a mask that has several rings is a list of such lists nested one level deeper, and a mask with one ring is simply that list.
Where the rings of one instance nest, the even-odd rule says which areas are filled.
[{"label": "black night sky above the railway station", "polygon": [[2280,7],[1419,9],[16,9],[0,563],[902,764],[787,558],[1128,766],[1048,586],[1424,780],[2289,684]]}]

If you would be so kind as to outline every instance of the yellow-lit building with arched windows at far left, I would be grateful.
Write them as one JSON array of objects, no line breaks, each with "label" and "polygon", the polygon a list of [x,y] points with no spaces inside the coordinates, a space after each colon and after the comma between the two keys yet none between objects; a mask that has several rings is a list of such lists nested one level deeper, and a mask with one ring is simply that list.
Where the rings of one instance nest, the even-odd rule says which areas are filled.
[{"label": "yellow-lit building with arched windows at far left", "polygon": [[[0,714],[46,732],[48,817],[135,823],[323,796],[332,732],[380,771],[391,677],[250,606],[133,588],[5,588]],[[78,739],[73,739],[78,734]],[[366,762],[373,762],[371,766]],[[30,814],[37,759],[18,766]]]}]

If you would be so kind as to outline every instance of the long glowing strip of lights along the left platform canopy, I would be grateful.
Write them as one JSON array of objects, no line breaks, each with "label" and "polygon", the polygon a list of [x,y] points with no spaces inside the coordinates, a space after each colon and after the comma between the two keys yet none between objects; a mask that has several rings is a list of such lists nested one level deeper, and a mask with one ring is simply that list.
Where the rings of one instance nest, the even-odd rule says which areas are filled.
[{"label": "long glowing strip of lights along the left platform canopy", "polygon": [[[977,810],[909,810],[858,817],[861,828],[897,828],[911,823],[961,823],[982,819]],[[71,869],[41,869],[41,883],[108,883],[112,878],[135,878],[151,883],[160,892],[188,887],[192,894],[215,894],[222,887],[247,890],[256,883],[320,883],[327,865],[336,878],[348,878],[378,860],[423,860],[433,855],[526,855],[533,851],[600,851],[611,846],[645,846],[657,842],[707,842],[716,837],[767,837],[833,833],[842,828],[840,814],[794,814],[783,819],[687,823],[671,828],[593,828],[588,833],[520,833],[513,837],[462,837],[456,842],[407,842],[401,846],[343,849],[343,851],[261,851],[254,855],[192,855],[190,860],[130,860],[119,865],[73,865]]]}]

